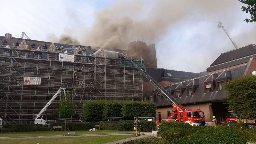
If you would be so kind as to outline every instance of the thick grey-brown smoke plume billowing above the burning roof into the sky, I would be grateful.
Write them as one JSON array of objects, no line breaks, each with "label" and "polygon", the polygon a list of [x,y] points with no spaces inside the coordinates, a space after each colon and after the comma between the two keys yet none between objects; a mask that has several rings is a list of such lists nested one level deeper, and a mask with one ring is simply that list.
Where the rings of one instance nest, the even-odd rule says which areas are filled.
[{"label": "thick grey-brown smoke plume billowing above the burning roof into the sky", "polygon": [[119,49],[133,40],[156,43],[180,20],[220,21],[225,17],[221,11],[235,5],[222,0],[159,0],[146,6],[145,3],[147,1],[118,1],[110,8],[96,12],[92,28],[84,32],[82,43]]}]

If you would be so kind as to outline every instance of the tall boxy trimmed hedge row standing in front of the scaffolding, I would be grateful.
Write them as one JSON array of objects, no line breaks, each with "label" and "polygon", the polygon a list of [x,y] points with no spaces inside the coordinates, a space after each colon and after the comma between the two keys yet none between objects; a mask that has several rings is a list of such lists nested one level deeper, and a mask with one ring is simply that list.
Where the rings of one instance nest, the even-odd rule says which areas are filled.
[{"label": "tall boxy trimmed hedge row standing in front of the scaffolding", "polygon": [[85,121],[103,121],[108,117],[123,117],[132,120],[133,117],[155,117],[156,105],[153,102],[133,101],[92,101],[84,105]]}]

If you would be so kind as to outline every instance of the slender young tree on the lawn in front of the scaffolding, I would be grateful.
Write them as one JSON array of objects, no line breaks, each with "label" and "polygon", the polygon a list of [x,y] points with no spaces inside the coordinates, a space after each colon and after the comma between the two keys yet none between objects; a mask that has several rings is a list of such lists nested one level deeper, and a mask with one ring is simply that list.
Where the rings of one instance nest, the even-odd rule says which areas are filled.
[{"label": "slender young tree on the lawn in front of the scaffolding", "polygon": [[73,96],[70,96],[69,91],[67,91],[66,96],[61,98],[57,112],[60,114],[61,118],[65,118],[65,131],[66,131],[66,121],[67,118],[76,111],[77,106],[72,103],[71,99]]}]

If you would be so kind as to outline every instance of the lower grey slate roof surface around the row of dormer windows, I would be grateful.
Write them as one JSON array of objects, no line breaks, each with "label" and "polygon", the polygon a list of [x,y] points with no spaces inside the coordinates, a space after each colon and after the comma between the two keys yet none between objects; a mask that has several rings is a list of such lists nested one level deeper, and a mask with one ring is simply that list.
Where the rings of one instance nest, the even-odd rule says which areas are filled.
[{"label": "lower grey slate roof surface around the row of dormer windows", "polygon": [[[182,96],[179,97],[179,98],[176,98],[176,99],[181,104],[189,104],[189,103],[198,103],[198,102],[207,102],[207,101],[216,101],[216,100],[226,99],[227,98],[226,90],[216,91],[216,88],[215,88],[214,91],[205,93],[204,92],[204,82],[209,77],[210,77],[209,79],[215,78],[216,76],[220,76],[220,75],[222,77],[223,74],[225,74],[225,73],[226,73],[227,78],[231,77],[231,75],[232,75],[232,78],[239,77],[239,76],[242,76],[244,74],[246,68],[247,68],[247,64],[244,64],[244,65],[241,65],[241,66],[238,66],[238,67],[235,67],[235,68],[228,69],[227,72],[220,71],[220,72],[217,72],[217,73],[214,73],[214,74],[209,74],[209,75],[198,77],[195,80],[197,82],[199,82],[199,86],[197,87],[194,95],[187,96],[187,91],[184,91]],[[183,81],[183,82],[180,82],[180,83],[186,83],[188,85],[190,82],[191,82],[191,80],[186,80],[186,81]],[[172,95],[173,97],[175,97],[176,95],[171,89],[173,87],[178,86],[180,83],[169,85],[169,86],[166,86],[164,88],[167,89],[171,94],[173,94]],[[158,90],[148,91],[144,94],[144,97],[148,98],[150,96],[150,93],[152,93],[153,91],[158,92]],[[153,92],[153,93],[155,93],[155,92]],[[162,98],[161,101],[156,102],[156,106],[157,107],[170,106],[170,103],[167,100],[165,100],[165,98]]]}]

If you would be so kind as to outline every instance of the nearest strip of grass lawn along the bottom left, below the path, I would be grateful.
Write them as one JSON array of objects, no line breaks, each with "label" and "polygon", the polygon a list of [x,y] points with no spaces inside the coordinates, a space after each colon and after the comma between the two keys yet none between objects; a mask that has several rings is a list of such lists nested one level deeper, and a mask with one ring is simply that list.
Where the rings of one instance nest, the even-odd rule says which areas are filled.
[{"label": "nearest strip of grass lawn along the bottom left, below the path", "polygon": [[19,144],[35,144],[39,142],[40,144],[47,144],[47,143],[107,143],[116,140],[126,139],[134,137],[134,135],[119,135],[119,136],[94,136],[94,137],[69,137],[69,138],[37,138],[37,139],[6,139],[1,140],[0,144],[2,143],[19,143]]}]

